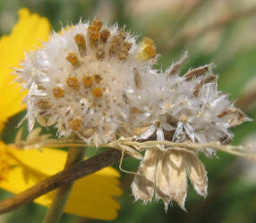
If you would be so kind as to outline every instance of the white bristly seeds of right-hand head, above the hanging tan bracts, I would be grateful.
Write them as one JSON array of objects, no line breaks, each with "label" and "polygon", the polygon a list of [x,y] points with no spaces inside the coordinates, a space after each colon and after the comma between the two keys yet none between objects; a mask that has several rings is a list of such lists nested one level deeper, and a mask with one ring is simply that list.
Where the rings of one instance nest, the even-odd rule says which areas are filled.
[{"label": "white bristly seeds of right-hand head, above the hanging tan bracts", "polygon": [[[155,136],[158,141],[229,143],[233,134],[228,128],[250,119],[228,100],[228,95],[218,90],[218,76],[213,74],[212,64],[189,70],[181,76],[180,67],[186,57],[184,54],[155,80],[143,81],[148,85],[145,88],[153,89],[157,95],[157,103],[153,103],[158,105],[153,111],[155,114],[151,115],[153,121],[149,120],[149,127],[144,128],[139,138]],[[153,87],[156,83],[158,89]]]}]

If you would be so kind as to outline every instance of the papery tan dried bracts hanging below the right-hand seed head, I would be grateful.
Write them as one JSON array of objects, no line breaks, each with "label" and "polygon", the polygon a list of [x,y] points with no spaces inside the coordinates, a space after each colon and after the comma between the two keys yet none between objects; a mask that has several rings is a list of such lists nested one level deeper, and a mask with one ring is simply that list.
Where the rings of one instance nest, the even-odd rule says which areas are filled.
[{"label": "papery tan dried bracts hanging below the right-hand seed head", "polygon": [[165,203],[166,209],[169,202],[175,201],[184,210],[187,177],[197,193],[205,197],[207,172],[196,153],[175,149],[147,150],[132,182],[132,194],[136,200],[144,202],[151,201],[155,195]]}]

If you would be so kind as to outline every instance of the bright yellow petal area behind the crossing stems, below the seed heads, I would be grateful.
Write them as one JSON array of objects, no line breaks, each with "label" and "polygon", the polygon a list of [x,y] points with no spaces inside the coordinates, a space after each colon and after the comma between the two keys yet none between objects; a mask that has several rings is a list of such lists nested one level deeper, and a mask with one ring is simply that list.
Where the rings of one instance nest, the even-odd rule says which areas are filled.
[{"label": "bright yellow petal area behind the crossing stems, below the seed heads", "polygon": [[[67,153],[56,149],[19,151],[9,148],[19,166],[9,170],[6,180],[0,186],[15,194],[38,183],[64,168]],[[67,202],[65,212],[92,219],[115,219],[120,208],[112,196],[122,194],[119,173],[113,168],[106,168],[86,178],[77,180]],[[35,202],[49,206],[53,192],[39,197]]]}]

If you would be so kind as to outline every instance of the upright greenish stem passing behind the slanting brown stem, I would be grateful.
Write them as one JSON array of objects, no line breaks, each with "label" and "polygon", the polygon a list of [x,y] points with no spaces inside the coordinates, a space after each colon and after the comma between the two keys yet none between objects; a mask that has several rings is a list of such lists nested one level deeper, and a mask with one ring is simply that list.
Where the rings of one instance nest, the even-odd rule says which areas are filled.
[{"label": "upright greenish stem passing behind the slanting brown stem", "polygon": [[[64,169],[68,169],[69,167],[73,166],[73,164],[82,161],[85,152],[85,148],[71,147],[69,149]],[[69,195],[71,194],[73,183],[74,181],[71,181],[68,184],[65,184],[64,186],[60,187],[55,192],[54,200],[49,210],[47,211],[47,215],[45,216],[43,223],[57,223],[61,219],[65,204],[68,201]]]}]

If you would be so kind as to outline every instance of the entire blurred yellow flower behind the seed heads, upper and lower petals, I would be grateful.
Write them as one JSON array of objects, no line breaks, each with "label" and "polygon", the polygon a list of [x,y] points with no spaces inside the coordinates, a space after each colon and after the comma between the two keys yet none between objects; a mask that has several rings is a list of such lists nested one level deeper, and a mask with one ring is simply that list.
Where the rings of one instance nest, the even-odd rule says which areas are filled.
[{"label": "entire blurred yellow flower behind the seed heads, upper and lower petals", "polygon": [[[0,39],[0,133],[4,122],[25,107],[21,100],[26,94],[21,87],[13,83],[12,67],[18,67],[24,57],[24,51],[35,49],[41,41],[46,41],[50,25],[46,18],[30,14],[27,9],[19,12],[19,22],[10,36]],[[13,193],[35,185],[64,169],[67,153],[44,148],[21,151],[0,141],[0,187]],[[119,173],[106,168],[86,178],[77,180],[73,192],[65,207],[65,212],[93,219],[115,219],[120,208],[113,196],[122,194],[119,187]],[[39,197],[35,202],[44,206],[51,204],[54,192]]]}]

